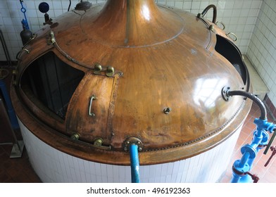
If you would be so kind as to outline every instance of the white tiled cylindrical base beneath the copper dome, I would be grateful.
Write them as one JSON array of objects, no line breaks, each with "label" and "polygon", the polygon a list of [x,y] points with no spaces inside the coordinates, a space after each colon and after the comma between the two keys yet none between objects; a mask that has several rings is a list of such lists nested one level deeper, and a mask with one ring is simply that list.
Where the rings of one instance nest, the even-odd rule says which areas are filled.
[{"label": "white tiled cylindrical base beneath the copper dome", "polygon": [[[52,148],[22,122],[30,163],[42,182],[131,182],[130,166],[94,163]],[[241,128],[219,146],[186,160],[140,166],[141,182],[218,182],[230,163]]]}]

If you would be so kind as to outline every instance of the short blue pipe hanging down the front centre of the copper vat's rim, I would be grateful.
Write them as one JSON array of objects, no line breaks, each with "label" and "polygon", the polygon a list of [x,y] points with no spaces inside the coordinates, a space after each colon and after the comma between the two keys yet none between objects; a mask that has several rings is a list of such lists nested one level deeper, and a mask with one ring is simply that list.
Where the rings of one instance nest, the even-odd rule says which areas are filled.
[{"label": "short blue pipe hanging down the front centre of the copper vat's rim", "polygon": [[138,146],[136,144],[130,145],[130,165],[131,165],[131,179],[132,183],[139,183],[139,155]]}]

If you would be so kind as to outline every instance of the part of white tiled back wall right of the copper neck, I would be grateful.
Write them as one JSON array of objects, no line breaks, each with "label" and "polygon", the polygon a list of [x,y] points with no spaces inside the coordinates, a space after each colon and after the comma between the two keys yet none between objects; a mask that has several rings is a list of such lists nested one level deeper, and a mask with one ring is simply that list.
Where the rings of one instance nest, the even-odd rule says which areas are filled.
[{"label": "part of white tiled back wall right of the copper neck", "polygon": [[[236,42],[242,53],[246,53],[258,13],[263,1],[158,1],[161,4],[175,6],[192,13],[200,13],[206,6],[214,4],[218,9],[217,21],[225,24],[226,32],[233,32],[239,38]],[[212,20],[213,11],[207,18]]]}]

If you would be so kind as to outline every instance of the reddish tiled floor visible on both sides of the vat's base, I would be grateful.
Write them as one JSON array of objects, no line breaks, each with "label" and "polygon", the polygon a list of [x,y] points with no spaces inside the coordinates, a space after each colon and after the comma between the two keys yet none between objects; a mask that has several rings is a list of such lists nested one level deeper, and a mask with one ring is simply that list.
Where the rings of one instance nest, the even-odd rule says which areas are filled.
[{"label": "reddish tiled floor visible on both sides of the vat's base", "polygon": [[[220,182],[226,183],[230,182],[232,174],[232,163],[234,160],[241,158],[240,148],[244,144],[249,144],[251,142],[252,132],[255,129],[253,120],[255,117],[259,117],[260,112],[258,106],[253,104],[251,112],[246,119],[242,133],[239,136],[237,145],[234,148],[234,154],[232,155],[232,161],[227,168],[225,176],[221,179]],[[272,121],[272,118],[268,115],[268,121]],[[270,134],[271,135],[271,134]],[[272,145],[276,145],[273,143]],[[41,182],[32,166],[29,163],[27,153],[24,150],[22,158],[9,158],[11,153],[11,145],[1,145],[0,146],[0,182],[32,182],[39,183]],[[253,169],[251,174],[257,174],[260,180],[259,183],[272,183],[276,182],[276,156],[272,158],[269,165],[264,167],[264,164],[270,157],[272,151],[268,151],[267,155],[263,154],[264,149],[262,149],[254,162]]]}]

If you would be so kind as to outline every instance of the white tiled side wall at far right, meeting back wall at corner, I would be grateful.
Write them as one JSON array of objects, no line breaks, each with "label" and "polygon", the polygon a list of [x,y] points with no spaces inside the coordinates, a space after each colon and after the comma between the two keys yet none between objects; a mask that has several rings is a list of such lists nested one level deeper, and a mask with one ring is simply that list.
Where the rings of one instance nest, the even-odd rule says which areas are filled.
[{"label": "white tiled side wall at far right, meeting back wall at corner", "polygon": [[276,1],[265,0],[256,20],[249,49],[249,60],[270,89],[268,97],[276,106]]}]

